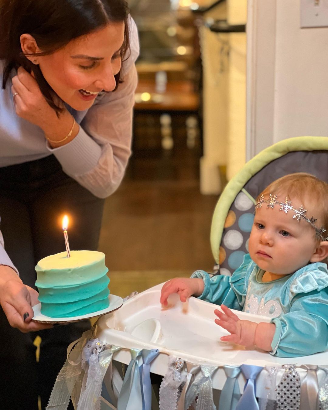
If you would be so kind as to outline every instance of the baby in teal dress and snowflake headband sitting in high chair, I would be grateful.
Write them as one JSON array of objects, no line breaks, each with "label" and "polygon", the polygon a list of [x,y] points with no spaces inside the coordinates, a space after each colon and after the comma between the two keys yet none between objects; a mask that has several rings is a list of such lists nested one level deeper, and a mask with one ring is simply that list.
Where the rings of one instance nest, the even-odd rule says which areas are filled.
[{"label": "baby in teal dress and snowflake headband sitting in high chair", "polygon": [[[328,348],[328,184],[306,173],[286,175],[257,197],[249,254],[229,276],[196,271],[162,287],[161,303],[178,293],[221,305],[215,323],[223,342],[257,346],[280,357]],[[261,314],[271,323],[239,320],[229,309]]]}]

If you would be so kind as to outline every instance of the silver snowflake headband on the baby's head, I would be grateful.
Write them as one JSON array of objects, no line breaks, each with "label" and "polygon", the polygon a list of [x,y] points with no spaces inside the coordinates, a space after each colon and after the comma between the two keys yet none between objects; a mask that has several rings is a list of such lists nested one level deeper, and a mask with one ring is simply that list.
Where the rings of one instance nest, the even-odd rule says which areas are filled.
[{"label": "silver snowflake headband on the baby's head", "polygon": [[266,205],[266,207],[271,209],[273,209],[276,205],[279,205],[280,211],[285,212],[285,214],[287,214],[289,211],[293,211],[293,219],[296,219],[298,222],[301,218],[304,219],[304,221],[310,223],[312,228],[315,229],[317,239],[321,239],[321,241],[328,241],[328,236],[325,237],[326,228],[324,228],[323,226],[321,226],[321,228],[318,228],[316,225],[314,225],[317,219],[313,218],[313,216],[311,216],[310,219],[307,218],[305,215],[307,209],[304,209],[303,205],[296,209],[292,207],[292,201],[290,201],[288,198],[285,198],[285,202],[279,202],[277,200],[277,195],[270,194],[269,199],[264,199],[264,195],[260,195],[255,202],[255,210],[257,210],[257,208],[261,208],[262,204],[264,203],[267,203],[268,205]]}]

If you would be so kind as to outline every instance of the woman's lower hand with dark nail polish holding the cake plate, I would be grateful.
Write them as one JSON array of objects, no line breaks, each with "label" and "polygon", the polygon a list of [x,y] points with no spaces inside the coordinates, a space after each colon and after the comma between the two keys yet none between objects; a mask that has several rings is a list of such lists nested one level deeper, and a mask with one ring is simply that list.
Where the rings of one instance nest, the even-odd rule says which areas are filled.
[{"label": "woman's lower hand with dark nail polish holding the cake plate", "polygon": [[13,269],[0,265],[0,304],[10,326],[23,333],[52,328],[52,325],[32,321],[32,306],[39,303],[38,296],[36,290],[23,284]]}]

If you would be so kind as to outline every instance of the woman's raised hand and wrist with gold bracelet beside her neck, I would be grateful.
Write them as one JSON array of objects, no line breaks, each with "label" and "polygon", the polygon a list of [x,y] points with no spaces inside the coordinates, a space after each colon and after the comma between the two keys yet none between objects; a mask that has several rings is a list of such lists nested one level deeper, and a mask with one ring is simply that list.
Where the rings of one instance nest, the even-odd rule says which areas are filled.
[{"label": "woman's raised hand and wrist with gold bracelet beside her neck", "polygon": [[[23,67],[19,67],[17,75],[12,78],[11,92],[14,96],[16,114],[40,127],[46,139],[50,139],[53,148],[68,144],[76,137],[79,126],[74,123],[73,117],[64,109],[59,117],[44,98],[35,78]],[[72,129],[70,137],[63,138]],[[62,141],[57,143],[57,141]]]}]

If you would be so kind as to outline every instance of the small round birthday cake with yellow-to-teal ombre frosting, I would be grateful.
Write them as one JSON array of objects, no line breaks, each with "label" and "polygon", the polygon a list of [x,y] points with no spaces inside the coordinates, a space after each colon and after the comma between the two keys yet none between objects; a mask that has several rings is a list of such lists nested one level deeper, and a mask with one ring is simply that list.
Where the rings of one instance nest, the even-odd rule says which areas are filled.
[{"label": "small round birthday cake with yellow-to-teal ombre frosting", "polygon": [[74,317],[109,306],[109,278],[105,254],[71,251],[47,256],[35,267],[41,313],[49,317]]}]

